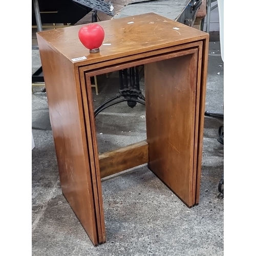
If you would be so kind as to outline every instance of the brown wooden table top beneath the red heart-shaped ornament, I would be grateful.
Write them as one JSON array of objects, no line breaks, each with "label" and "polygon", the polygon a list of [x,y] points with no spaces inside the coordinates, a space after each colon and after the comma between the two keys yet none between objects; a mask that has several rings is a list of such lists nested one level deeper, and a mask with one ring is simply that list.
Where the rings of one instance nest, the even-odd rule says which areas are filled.
[{"label": "brown wooden table top beneath the red heart-shaped ornament", "polygon": [[[185,44],[208,36],[205,32],[155,13],[111,19],[98,24],[105,31],[99,53],[89,53],[78,38],[79,29],[86,25],[42,31],[37,33],[37,37],[44,38],[54,51],[82,66]],[[86,59],[72,60],[79,57]]]}]

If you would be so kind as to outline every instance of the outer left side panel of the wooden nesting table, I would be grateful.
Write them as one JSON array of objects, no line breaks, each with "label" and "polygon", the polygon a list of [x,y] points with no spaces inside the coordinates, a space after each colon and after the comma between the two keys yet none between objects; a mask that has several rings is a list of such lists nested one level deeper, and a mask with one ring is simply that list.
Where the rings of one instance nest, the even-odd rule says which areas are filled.
[{"label": "outer left side panel of the wooden nesting table", "polygon": [[[83,116],[78,70],[56,54],[40,36],[38,45],[49,105],[50,121],[63,195],[93,244],[98,244],[97,201],[93,193],[88,136]],[[102,197],[101,194],[98,195]]]}]

